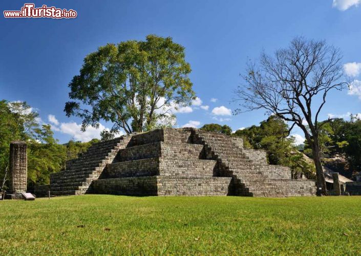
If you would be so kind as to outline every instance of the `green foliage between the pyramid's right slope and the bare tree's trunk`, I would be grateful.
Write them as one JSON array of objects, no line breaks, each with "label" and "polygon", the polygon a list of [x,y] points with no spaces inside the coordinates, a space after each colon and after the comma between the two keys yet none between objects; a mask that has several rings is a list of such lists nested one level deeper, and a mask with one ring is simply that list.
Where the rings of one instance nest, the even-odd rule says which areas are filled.
[{"label": "green foliage between the pyramid's right slope and the bare tree's trunk", "polygon": [[293,144],[294,139],[288,137],[288,125],[279,117],[270,116],[259,126],[252,125],[238,130],[233,135],[243,138],[245,145],[254,149],[264,149],[270,164],[291,167],[296,177],[303,173],[313,177],[314,167],[309,164]]}]

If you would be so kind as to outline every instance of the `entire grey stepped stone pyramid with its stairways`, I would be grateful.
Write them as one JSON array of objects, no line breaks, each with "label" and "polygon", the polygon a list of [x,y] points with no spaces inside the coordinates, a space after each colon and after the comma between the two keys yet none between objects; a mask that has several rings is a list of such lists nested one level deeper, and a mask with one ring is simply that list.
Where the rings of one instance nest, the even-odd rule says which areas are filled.
[{"label": "entire grey stepped stone pyramid with its stairways", "polygon": [[197,129],[160,129],[94,144],[51,175],[54,196],[313,196],[313,180],[291,179],[241,138]]}]

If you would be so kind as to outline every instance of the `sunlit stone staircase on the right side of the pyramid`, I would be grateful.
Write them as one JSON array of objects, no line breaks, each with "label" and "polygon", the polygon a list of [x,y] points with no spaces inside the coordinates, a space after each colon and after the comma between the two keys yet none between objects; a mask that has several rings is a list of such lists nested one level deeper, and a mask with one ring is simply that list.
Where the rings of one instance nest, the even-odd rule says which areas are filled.
[{"label": "sunlit stone staircase on the right side of the pyramid", "polygon": [[[243,151],[243,144],[223,134],[194,131],[194,140],[202,143],[211,159],[217,159],[220,165],[219,176],[233,178],[230,195],[253,197],[287,197],[315,195],[314,181],[291,180],[291,171],[285,167],[268,165],[264,160],[251,159]],[[260,154],[262,152],[259,152]],[[267,169],[267,173],[263,172]],[[287,170],[288,169],[288,170]],[[274,175],[268,172],[274,172]],[[286,174],[287,175],[287,174]],[[269,178],[270,176],[273,177]]]}]

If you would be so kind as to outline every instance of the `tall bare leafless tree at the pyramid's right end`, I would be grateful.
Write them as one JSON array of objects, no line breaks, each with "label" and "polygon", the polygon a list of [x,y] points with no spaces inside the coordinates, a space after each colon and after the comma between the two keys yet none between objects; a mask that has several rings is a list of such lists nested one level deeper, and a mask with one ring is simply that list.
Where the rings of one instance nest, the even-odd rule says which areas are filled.
[{"label": "tall bare leafless tree at the pyramid's right end", "polygon": [[[343,76],[339,49],[325,41],[296,37],[286,49],[275,51],[274,56],[261,54],[258,63],[249,63],[245,85],[235,91],[240,108],[236,114],[265,109],[269,114],[292,122],[289,132],[297,125],[312,147],[316,167],[317,195],[326,195],[318,133],[318,118],[332,89],[342,90],[347,83]],[[321,188],[321,189],[320,189]]]}]

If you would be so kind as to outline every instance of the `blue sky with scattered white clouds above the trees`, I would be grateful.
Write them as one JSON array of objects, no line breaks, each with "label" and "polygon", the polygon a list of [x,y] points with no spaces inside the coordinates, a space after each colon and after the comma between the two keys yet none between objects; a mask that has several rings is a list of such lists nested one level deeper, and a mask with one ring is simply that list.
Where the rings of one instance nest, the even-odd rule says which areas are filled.
[{"label": "blue sky with scattered white clouds above the trees", "polygon": [[[2,11],[20,10],[25,3],[3,0],[0,6]],[[147,34],[171,36],[186,49],[190,79],[202,102],[177,113],[179,127],[218,122],[237,130],[266,119],[263,111],[231,115],[237,107],[230,103],[232,90],[242,82],[239,74],[249,58],[256,59],[263,49],[272,53],[300,35],[341,48],[345,71],[354,80],[352,91],[329,95],[322,117],[361,113],[361,0],[32,3],[74,9],[78,16],[0,17],[0,99],[27,101],[42,122],[53,125],[61,143],[99,134],[95,129],[81,133],[81,120],[63,112],[68,83],[79,73],[83,58],[108,42],[143,40]],[[303,137],[298,129],[293,134]]]}]

